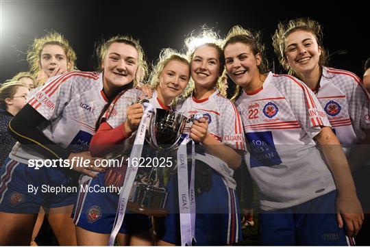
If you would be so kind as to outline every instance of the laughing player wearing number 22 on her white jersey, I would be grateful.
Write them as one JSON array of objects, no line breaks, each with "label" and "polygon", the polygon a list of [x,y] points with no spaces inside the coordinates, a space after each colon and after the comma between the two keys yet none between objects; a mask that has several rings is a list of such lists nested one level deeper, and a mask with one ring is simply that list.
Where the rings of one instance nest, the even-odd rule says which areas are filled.
[{"label": "laughing player wearing number 22 on her white jersey", "polygon": [[240,26],[224,45],[227,73],[243,89],[236,106],[261,192],[262,244],[345,245],[343,222],[352,237],[363,220],[347,159],[314,93],[295,77],[265,74],[261,47]]}]

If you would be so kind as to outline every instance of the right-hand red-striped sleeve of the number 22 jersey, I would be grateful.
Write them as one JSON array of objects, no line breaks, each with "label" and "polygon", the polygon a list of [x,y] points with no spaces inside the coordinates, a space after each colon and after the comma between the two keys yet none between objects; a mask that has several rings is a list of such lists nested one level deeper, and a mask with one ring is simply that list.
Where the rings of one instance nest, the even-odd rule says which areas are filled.
[{"label": "right-hand red-striped sleeve of the number 22 jersey", "polygon": [[330,122],[326,116],[319,100],[299,79],[282,75],[279,83],[275,86],[282,91],[285,98],[289,101],[291,110],[297,118],[301,129],[303,129],[310,138],[314,138],[321,131],[321,127],[330,127]]}]

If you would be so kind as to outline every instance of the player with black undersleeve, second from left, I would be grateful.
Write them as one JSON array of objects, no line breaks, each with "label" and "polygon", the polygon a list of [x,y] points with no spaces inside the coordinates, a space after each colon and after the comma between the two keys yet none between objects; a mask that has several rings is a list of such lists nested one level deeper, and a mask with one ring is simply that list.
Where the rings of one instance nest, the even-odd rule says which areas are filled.
[{"label": "player with black undersleeve, second from left", "polygon": [[[10,131],[21,144],[14,146],[1,171],[1,245],[29,244],[40,206],[60,218],[57,228],[51,224],[58,241],[60,237],[65,241],[59,243],[76,243],[70,216],[77,187],[70,169],[92,177],[93,171],[103,172],[95,166],[88,144],[103,107],[136,79],[143,64],[140,51],[132,38],[111,38],[99,53],[102,73],[75,71],[51,79],[10,122]],[[82,160],[83,166],[76,162]],[[42,186],[49,189],[41,190]]]}]

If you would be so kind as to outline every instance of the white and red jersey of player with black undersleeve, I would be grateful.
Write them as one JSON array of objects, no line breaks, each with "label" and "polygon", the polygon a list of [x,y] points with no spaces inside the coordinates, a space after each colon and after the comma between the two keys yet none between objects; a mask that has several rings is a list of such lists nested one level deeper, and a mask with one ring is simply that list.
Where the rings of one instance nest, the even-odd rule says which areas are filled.
[{"label": "white and red jersey of player with black undersleeve", "polygon": [[[28,103],[49,121],[42,133],[77,153],[88,150],[97,119],[108,103],[102,89],[102,74],[72,71],[51,78]],[[45,159],[19,142],[10,157],[26,164],[28,159]]]}]

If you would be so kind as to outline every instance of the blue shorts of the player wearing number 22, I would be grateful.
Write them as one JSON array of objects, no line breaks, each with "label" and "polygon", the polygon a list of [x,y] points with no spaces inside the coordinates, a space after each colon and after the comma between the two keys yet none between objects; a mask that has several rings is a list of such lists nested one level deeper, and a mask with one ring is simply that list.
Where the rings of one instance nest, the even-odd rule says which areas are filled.
[{"label": "blue shorts of the player wearing number 22", "polygon": [[[336,191],[278,211],[260,212],[260,240],[269,246],[349,246],[354,239],[339,229]],[[318,213],[319,212],[319,213]]]}]

